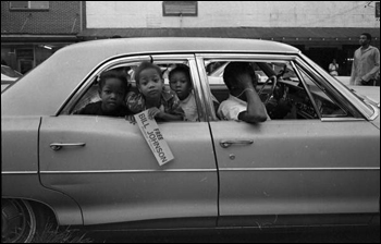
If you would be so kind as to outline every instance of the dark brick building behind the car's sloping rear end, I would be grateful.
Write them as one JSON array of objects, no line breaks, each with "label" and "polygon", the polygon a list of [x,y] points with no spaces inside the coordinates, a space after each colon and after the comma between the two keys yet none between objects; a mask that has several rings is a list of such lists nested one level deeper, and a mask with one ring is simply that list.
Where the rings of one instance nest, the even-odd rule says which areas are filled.
[{"label": "dark brick building behind the car's sloping rear end", "polygon": [[1,1],[1,61],[26,73],[77,41],[81,1]]}]

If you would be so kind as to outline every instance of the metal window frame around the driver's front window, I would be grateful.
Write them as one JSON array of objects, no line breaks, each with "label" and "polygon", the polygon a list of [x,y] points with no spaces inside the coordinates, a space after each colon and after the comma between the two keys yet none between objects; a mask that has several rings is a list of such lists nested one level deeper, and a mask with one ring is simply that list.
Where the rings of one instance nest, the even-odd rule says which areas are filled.
[{"label": "metal window frame around the driver's front window", "polygon": [[[352,121],[352,120],[365,120],[364,114],[358,111],[356,107],[354,107],[351,102],[348,102],[347,98],[343,96],[343,94],[339,93],[336,87],[333,87],[332,85],[328,85],[327,81],[324,81],[324,77],[317,72],[316,69],[311,68],[308,62],[303,60],[300,57],[295,54],[284,54],[284,53],[197,53],[196,54],[196,62],[197,65],[200,69],[200,77],[202,81],[208,81],[208,74],[206,71],[206,63],[210,62],[210,60],[219,61],[219,62],[226,62],[226,61],[242,61],[242,62],[291,62],[293,65],[293,69],[296,72],[296,75],[298,76],[299,81],[303,83],[304,89],[306,90],[312,107],[315,109],[315,112],[318,114],[318,118],[320,121]],[[296,66],[297,64],[298,66]],[[310,89],[307,88],[306,82],[304,81],[302,74],[299,73],[299,69],[303,69],[304,72],[309,74],[312,77],[314,83],[321,89],[323,93],[329,93],[329,97],[332,99],[334,98],[334,103],[340,107],[342,110],[344,110],[348,115],[346,117],[332,117],[327,118],[322,117],[320,113],[315,98],[312,97]],[[206,90],[211,90],[209,82],[202,82],[204,87],[204,96],[206,97],[206,101],[209,105],[207,107],[209,115],[209,120],[211,121],[219,121],[216,111],[213,109],[213,103],[206,93]]]}]

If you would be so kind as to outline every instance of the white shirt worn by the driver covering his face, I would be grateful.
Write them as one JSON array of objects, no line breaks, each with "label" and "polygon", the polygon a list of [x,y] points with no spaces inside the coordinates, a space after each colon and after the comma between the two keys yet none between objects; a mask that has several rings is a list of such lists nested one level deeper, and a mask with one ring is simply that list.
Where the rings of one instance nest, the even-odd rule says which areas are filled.
[{"label": "white shirt worn by the driver covering his face", "polygon": [[[229,98],[221,102],[219,109],[217,110],[217,114],[220,117],[221,120],[238,120],[238,114],[246,110],[247,102],[230,94]],[[267,114],[267,119],[271,120],[269,114]]]}]

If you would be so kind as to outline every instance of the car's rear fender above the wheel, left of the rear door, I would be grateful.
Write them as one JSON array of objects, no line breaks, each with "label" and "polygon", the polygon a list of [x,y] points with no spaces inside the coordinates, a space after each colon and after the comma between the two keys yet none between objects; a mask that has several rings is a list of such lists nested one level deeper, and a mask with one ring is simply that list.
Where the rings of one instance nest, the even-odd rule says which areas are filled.
[{"label": "car's rear fender above the wheel, left of the rear door", "polygon": [[1,118],[1,197],[38,202],[54,209],[59,224],[83,224],[75,200],[40,184],[39,124],[38,117]]}]

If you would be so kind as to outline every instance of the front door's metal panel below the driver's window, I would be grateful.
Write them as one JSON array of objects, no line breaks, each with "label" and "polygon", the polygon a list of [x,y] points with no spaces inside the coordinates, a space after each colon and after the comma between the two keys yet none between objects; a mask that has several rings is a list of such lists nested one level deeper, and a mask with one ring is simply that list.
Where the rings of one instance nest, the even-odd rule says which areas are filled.
[{"label": "front door's metal panel below the driver's window", "polygon": [[[287,215],[379,210],[379,131],[369,122],[210,124],[220,173],[221,217],[267,216],[266,221],[282,222]],[[219,143],[226,139],[254,143],[221,147]]]}]

